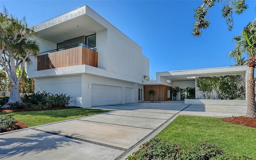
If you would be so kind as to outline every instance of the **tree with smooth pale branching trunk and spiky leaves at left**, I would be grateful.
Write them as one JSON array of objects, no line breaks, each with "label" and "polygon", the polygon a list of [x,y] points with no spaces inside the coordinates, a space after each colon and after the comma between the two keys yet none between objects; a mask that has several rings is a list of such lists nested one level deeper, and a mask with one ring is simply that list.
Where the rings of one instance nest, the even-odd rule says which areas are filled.
[{"label": "tree with smooth pale branching trunk and spiky leaves at left", "polygon": [[[0,66],[7,72],[11,82],[9,103],[22,103],[19,92],[20,80],[25,71],[25,64],[31,56],[38,56],[39,45],[36,40],[30,40],[34,35],[34,29],[26,23],[26,19],[9,15],[6,8],[4,13],[0,13]],[[22,72],[17,76],[16,70],[22,68]]]}]

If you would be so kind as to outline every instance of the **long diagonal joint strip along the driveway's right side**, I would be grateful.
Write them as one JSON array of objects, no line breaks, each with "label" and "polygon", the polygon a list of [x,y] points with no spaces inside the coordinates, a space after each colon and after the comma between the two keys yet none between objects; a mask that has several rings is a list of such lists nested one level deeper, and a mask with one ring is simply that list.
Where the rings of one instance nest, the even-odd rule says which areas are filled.
[{"label": "long diagonal joint strip along the driveway's right side", "polygon": [[166,124],[169,120],[171,120],[172,118],[174,118],[177,114],[179,114],[181,111],[185,110],[186,108],[188,108],[191,104],[189,104],[188,106],[186,106],[185,108],[183,108],[182,110],[180,110],[179,112],[177,112],[176,114],[174,114],[171,118],[169,118],[168,120],[166,120],[164,123],[162,123],[160,126],[158,126],[156,129],[154,129],[152,132],[150,132],[150,134],[148,134],[147,136],[145,136],[144,138],[142,138],[140,141],[138,141],[136,144],[134,144],[133,146],[131,146],[128,150],[126,150],[124,153],[120,154],[120,156],[118,156],[116,159],[114,160],[120,160],[121,158],[123,158],[126,154],[128,154],[131,150],[133,150],[136,146],[138,146],[139,144],[141,144],[144,140],[146,140],[149,136],[151,136],[154,132],[156,132],[159,128],[161,128],[162,126],[164,126],[164,124]]}]

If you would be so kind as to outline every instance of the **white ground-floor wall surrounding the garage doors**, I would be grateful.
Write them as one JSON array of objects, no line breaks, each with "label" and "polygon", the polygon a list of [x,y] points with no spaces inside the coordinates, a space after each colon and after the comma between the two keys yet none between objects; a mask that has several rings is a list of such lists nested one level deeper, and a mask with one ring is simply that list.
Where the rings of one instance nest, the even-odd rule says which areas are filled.
[{"label": "white ground-floor wall surrounding the garage doors", "polygon": [[[134,83],[110,80],[106,78],[89,75],[56,76],[35,79],[35,92],[67,93],[72,97],[70,105],[91,107],[92,106],[92,85],[100,84],[106,86],[117,86],[122,88],[121,103],[126,103],[126,89],[129,88],[132,101],[138,102],[138,86]],[[140,86],[143,88],[143,86]],[[135,90],[137,89],[137,90]]]}]

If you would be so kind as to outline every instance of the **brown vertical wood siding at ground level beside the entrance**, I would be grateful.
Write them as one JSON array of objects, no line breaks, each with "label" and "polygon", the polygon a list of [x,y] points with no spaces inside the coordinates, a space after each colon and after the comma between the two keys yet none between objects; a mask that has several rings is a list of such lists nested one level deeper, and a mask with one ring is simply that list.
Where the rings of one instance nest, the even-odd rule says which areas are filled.
[{"label": "brown vertical wood siding at ground level beside the entrance", "polygon": [[[153,101],[172,100],[172,87],[165,85],[146,85],[144,86],[144,101],[151,101],[151,96],[148,94],[150,90],[155,91]],[[167,98],[167,90],[170,90],[170,98]]]}]

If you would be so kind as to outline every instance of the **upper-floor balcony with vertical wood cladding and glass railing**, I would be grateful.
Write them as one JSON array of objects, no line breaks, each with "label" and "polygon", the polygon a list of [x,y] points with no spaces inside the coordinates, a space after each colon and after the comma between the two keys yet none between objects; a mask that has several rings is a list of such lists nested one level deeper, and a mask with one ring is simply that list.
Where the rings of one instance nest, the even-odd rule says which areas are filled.
[{"label": "upper-floor balcony with vertical wood cladding and glass railing", "polygon": [[96,52],[96,48],[81,43],[42,52],[37,58],[37,70],[47,70],[82,64],[98,67],[98,52]]}]

